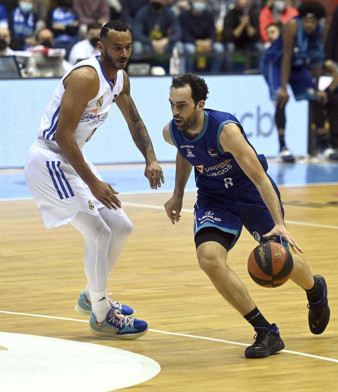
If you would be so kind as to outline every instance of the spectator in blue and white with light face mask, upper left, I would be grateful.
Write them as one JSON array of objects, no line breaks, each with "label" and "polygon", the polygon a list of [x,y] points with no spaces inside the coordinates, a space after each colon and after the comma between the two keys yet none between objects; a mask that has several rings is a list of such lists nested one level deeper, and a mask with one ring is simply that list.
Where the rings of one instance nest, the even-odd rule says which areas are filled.
[{"label": "spectator in blue and white with light face mask, upper left", "polygon": [[33,0],[18,0],[18,7],[12,13],[12,36],[16,49],[27,49],[35,43],[35,15]]}]

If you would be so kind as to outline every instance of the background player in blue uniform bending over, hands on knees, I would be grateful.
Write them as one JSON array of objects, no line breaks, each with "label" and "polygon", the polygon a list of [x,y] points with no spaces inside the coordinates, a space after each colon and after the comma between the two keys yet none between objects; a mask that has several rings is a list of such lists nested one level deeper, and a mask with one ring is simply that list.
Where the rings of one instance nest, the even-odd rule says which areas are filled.
[{"label": "background player in blue uniform bending over, hands on knees", "polygon": [[338,160],[338,154],[329,145],[329,133],[325,129],[323,105],[327,102],[327,94],[318,89],[325,59],[322,44],[324,25],[320,21],[325,17],[325,9],[322,4],[311,1],[303,2],[298,11],[299,16],[284,25],[283,33],[263,53],[260,64],[261,73],[269,85],[270,97],[276,101],[275,120],[280,140],[280,158],[284,162],[294,162],[284,140],[289,83],[296,100],[309,100],[322,156]]}]

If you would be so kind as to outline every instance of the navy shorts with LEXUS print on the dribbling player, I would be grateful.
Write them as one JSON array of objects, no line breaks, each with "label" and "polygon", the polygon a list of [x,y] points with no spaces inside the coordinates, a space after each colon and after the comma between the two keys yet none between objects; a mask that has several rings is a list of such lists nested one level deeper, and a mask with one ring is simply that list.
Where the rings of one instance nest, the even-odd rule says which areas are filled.
[{"label": "navy shorts with LEXUS print on the dribbling player", "polygon": [[[280,200],[278,188],[274,183],[273,185]],[[281,200],[280,205],[284,217]],[[274,221],[254,184],[224,197],[214,196],[212,193],[210,193],[210,197],[197,196],[194,215],[194,235],[204,227],[216,227],[224,232],[234,234],[234,241],[229,250],[237,242],[243,226],[259,243],[274,241],[289,249],[289,244],[281,236],[263,237],[264,234],[272,230]]]}]

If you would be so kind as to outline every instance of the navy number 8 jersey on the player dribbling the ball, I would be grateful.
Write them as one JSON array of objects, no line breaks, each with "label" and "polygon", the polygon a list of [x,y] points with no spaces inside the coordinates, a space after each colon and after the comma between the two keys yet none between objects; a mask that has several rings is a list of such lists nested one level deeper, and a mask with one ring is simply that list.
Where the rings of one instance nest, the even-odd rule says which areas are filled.
[{"label": "navy number 8 jersey on the player dribbling the ball", "polygon": [[[223,125],[232,122],[238,124],[243,137],[252,147],[237,118],[230,113],[211,109],[204,109],[204,114],[203,129],[194,140],[185,138],[182,132],[177,129],[174,120],[169,123],[173,143],[183,158],[194,166],[197,193],[200,196],[210,196],[211,194],[222,196],[222,194],[226,195],[239,187],[253,185],[239,167],[234,156],[230,152],[223,152],[219,144],[219,135]],[[254,147],[252,149],[255,151]],[[258,159],[266,171],[265,157],[258,155]]]}]

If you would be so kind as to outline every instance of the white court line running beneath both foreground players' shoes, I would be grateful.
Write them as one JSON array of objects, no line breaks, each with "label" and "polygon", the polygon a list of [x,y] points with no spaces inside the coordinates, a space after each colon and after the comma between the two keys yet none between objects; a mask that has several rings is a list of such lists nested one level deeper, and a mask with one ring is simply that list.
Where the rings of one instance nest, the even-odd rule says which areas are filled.
[{"label": "white court line running beneath both foreground players' shoes", "polygon": [[[57,316],[43,316],[40,314],[29,314],[29,313],[19,313],[19,312],[7,312],[5,310],[0,310],[0,313],[5,313],[5,314],[16,314],[19,316],[33,316],[33,317],[42,317],[42,318],[51,318],[51,319],[58,319],[58,320],[66,320],[66,321],[80,321],[81,323],[89,323],[88,320],[79,320],[79,319],[71,319],[71,318],[66,318],[66,317],[57,317]],[[197,336],[197,335],[188,335],[188,334],[179,334],[176,332],[167,332],[167,331],[160,331],[157,329],[148,329],[150,332],[156,332],[159,334],[166,334],[166,335],[174,335],[174,336],[184,336],[186,338],[194,338],[194,339],[203,339],[203,340],[212,340],[216,342],[221,342],[221,343],[228,343],[228,344],[234,344],[238,346],[250,346],[249,343],[239,343],[239,342],[233,342],[230,340],[223,340],[223,339],[215,339],[215,338],[206,338],[205,336]],[[281,350],[283,352],[287,352],[289,354],[295,354],[295,355],[301,355],[304,357],[309,357],[309,358],[316,358],[316,359],[323,359],[324,361],[330,361],[330,362],[336,362],[338,363],[338,359],[333,359],[333,358],[328,358],[328,357],[322,357],[319,355],[312,355],[312,354],[306,354],[304,352],[298,352],[298,351],[290,351],[290,350]]]}]

